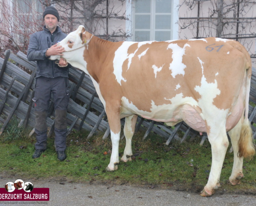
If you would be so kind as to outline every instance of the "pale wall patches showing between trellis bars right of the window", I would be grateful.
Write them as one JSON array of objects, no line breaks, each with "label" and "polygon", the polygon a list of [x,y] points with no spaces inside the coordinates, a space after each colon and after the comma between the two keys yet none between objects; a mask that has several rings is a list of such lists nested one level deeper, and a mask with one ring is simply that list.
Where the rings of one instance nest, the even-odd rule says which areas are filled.
[{"label": "pale wall patches showing between trellis bars right of the window", "polygon": [[[216,9],[215,5],[212,4],[216,2],[217,0],[213,1],[207,1],[207,2],[201,2],[200,3],[200,17],[209,17],[210,11],[213,9]],[[198,16],[198,4],[194,5],[193,7],[189,8],[186,4],[183,4],[183,0],[179,0],[179,4],[182,5],[179,8],[179,17],[180,18],[197,18]],[[188,1],[187,1],[188,2]],[[192,1],[190,1],[192,2]],[[256,4],[253,4],[253,1],[250,1],[251,3],[248,3],[245,7],[243,7],[243,10],[239,12],[239,17],[245,17],[245,18],[255,18],[256,13]],[[225,4],[231,4],[232,0],[226,0],[224,1]],[[241,9],[242,7],[240,7]],[[227,7],[226,7],[227,9]],[[231,12],[227,15],[228,18],[233,18],[234,12],[231,10]],[[216,15],[214,16],[216,17]],[[179,20],[179,39],[191,39],[195,38],[197,36],[197,23],[191,24],[191,22],[196,20]],[[224,20],[227,21],[227,20]],[[241,20],[243,21],[243,20]],[[256,33],[256,20],[253,20],[251,24],[247,24],[246,22],[252,21],[252,20],[244,20],[245,23],[239,24],[239,34],[249,34],[254,32]],[[213,23],[217,23],[214,21]],[[200,22],[199,23],[199,37],[216,37],[216,26],[210,23],[208,21]],[[185,29],[181,29],[183,26],[189,25]],[[230,20],[229,24],[226,24],[223,29],[222,38],[225,37],[236,37],[236,23],[232,23]],[[248,35],[245,35],[248,36]],[[249,54],[255,54],[256,50],[256,38],[250,38],[250,39],[238,39],[240,43],[242,43],[245,48],[248,50]],[[256,67],[256,58],[251,58],[253,67]]]}]

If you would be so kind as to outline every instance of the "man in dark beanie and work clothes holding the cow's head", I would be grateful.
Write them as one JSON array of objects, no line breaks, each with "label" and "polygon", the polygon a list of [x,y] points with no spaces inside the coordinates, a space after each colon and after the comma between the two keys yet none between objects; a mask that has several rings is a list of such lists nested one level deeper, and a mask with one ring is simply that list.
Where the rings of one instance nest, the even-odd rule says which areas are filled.
[{"label": "man in dark beanie and work clothes holding the cow's head", "polygon": [[63,55],[65,49],[58,46],[57,42],[67,35],[57,26],[59,21],[58,11],[49,6],[43,12],[45,26],[42,31],[31,35],[29,40],[27,59],[37,61],[36,85],[35,85],[35,114],[36,114],[36,144],[33,159],[39,158],[47,148],[47,114],[51,98],[54,98],[55,109],[55,150],[57,159],[64,161],[67,158],[67,107],[68,94],[68,63],[61,58],[59,63],[49,59],[51,55]]}]

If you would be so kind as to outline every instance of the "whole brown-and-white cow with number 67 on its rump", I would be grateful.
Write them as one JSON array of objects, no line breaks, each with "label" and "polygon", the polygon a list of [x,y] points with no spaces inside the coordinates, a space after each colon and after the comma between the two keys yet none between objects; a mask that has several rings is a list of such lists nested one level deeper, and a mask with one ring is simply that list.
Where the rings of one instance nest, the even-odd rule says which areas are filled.
[{"label": "whole brown-and-white cow with number 67 on its rump", "polygon": [[[207,132],[212,167],[200,195],[211,196],[219,179],[229,132],[234,151],[231,184],[240,183],[243,159],[254,155],[248,120],[251,60],[240,43],[221,38],[165,42],[109,42],[84,26],[59,42],[72,66],[89,75],[106,110],[112,153],[108,171],[119,163],[120,119],[125,117],[122,161],[131,160],[137,115],[168,126],[184,121]],[[57,62],[56,62],[57,63]]]}]

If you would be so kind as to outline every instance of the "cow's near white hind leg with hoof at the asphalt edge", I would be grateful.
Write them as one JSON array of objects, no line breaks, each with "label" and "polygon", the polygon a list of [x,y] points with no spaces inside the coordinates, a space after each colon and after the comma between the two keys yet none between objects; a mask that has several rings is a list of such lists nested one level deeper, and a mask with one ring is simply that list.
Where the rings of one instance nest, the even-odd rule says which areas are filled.
[{"label": "cow's near white hind leg with hoof at the asphalt edge", "polygon": [[[225,124],[222,124],[225,125]],[[209,179],[201,192],[201,196],[209,197],[214,194],[215,190],[220,186],[219,179],[225,153],[227,152],[229,141],[225,131],[225,127],[219,128],[218,131],[207,132],[208,140],[212,147],[212,167],[210,169]]]}]

